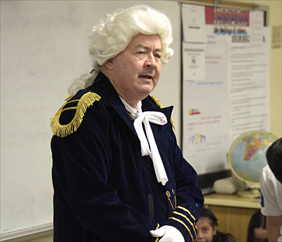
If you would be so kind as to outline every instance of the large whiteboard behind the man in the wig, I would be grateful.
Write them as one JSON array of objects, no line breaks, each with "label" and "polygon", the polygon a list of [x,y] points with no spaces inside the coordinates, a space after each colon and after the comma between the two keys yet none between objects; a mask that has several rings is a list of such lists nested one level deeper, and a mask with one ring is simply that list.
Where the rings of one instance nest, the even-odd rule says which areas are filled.
[{"label": "large whiteboard behind the man in the wig", "polygon": [[53,220],[49,119],[73,78],[91,70],[93,23],[145,3],[172,20],[175,54],[152,95],[180,139],[180,6],[176,1],[1,1],[1,235]]}]

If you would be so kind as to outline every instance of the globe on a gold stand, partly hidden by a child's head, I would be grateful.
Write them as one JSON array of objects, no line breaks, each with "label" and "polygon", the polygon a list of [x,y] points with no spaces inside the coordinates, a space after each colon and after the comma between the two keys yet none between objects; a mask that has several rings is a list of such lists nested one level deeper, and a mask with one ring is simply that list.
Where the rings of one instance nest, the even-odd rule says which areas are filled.
[{"label": "globe on a gold stand, partly hidden by a child's head", "polygon": [[249,131],[233,141],[227,155],[231,173],[250,188],[238,192],[238,195],[244,197],[260,195],[259,178],[262,169],[267,165],[265,153],[276,139],[276,136],[266,131]]}]

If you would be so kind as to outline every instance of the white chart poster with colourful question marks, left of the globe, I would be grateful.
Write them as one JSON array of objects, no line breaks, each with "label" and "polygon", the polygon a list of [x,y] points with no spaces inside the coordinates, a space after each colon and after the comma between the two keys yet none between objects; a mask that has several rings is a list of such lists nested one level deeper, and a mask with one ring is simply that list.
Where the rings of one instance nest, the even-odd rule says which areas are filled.
[{"label": "white chart poster with colourful question marks, left of the globe", "polygon": [[[183,155],[200,173],[226,169],[228,150],[228,69],[222,68],[228,43],[213,30],[206,26],[205,47],[194,45],[205,49],[203,78],[183,76]],[[183,47],[184,56],[187,44]],[[185,59],[183,69],[190,69]]]}]

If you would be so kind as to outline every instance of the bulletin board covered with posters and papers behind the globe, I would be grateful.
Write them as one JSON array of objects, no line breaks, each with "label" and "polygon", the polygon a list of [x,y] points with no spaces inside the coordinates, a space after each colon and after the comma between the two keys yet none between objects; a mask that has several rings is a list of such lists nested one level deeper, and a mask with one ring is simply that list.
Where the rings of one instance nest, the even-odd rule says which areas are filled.
[{"label": "bulletin board covered with posters and papers behind the globe", "polygon": [[183,156],[199,175],[224,171],[235,138],[269,131],[266,11],[182,3],[181,16]]}]

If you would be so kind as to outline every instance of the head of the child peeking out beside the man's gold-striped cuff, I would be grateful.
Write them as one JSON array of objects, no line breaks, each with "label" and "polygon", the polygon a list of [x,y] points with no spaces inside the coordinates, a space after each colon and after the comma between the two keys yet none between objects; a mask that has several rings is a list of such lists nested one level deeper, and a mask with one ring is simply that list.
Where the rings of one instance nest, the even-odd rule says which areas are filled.
[{"label": "head of the child peeking out beside the man's gold-striped cuff", "polygon": [[197,228],[198,236],[195,242],[212,242],[217,231],[217,219],[211,210],[203,207]]}]

